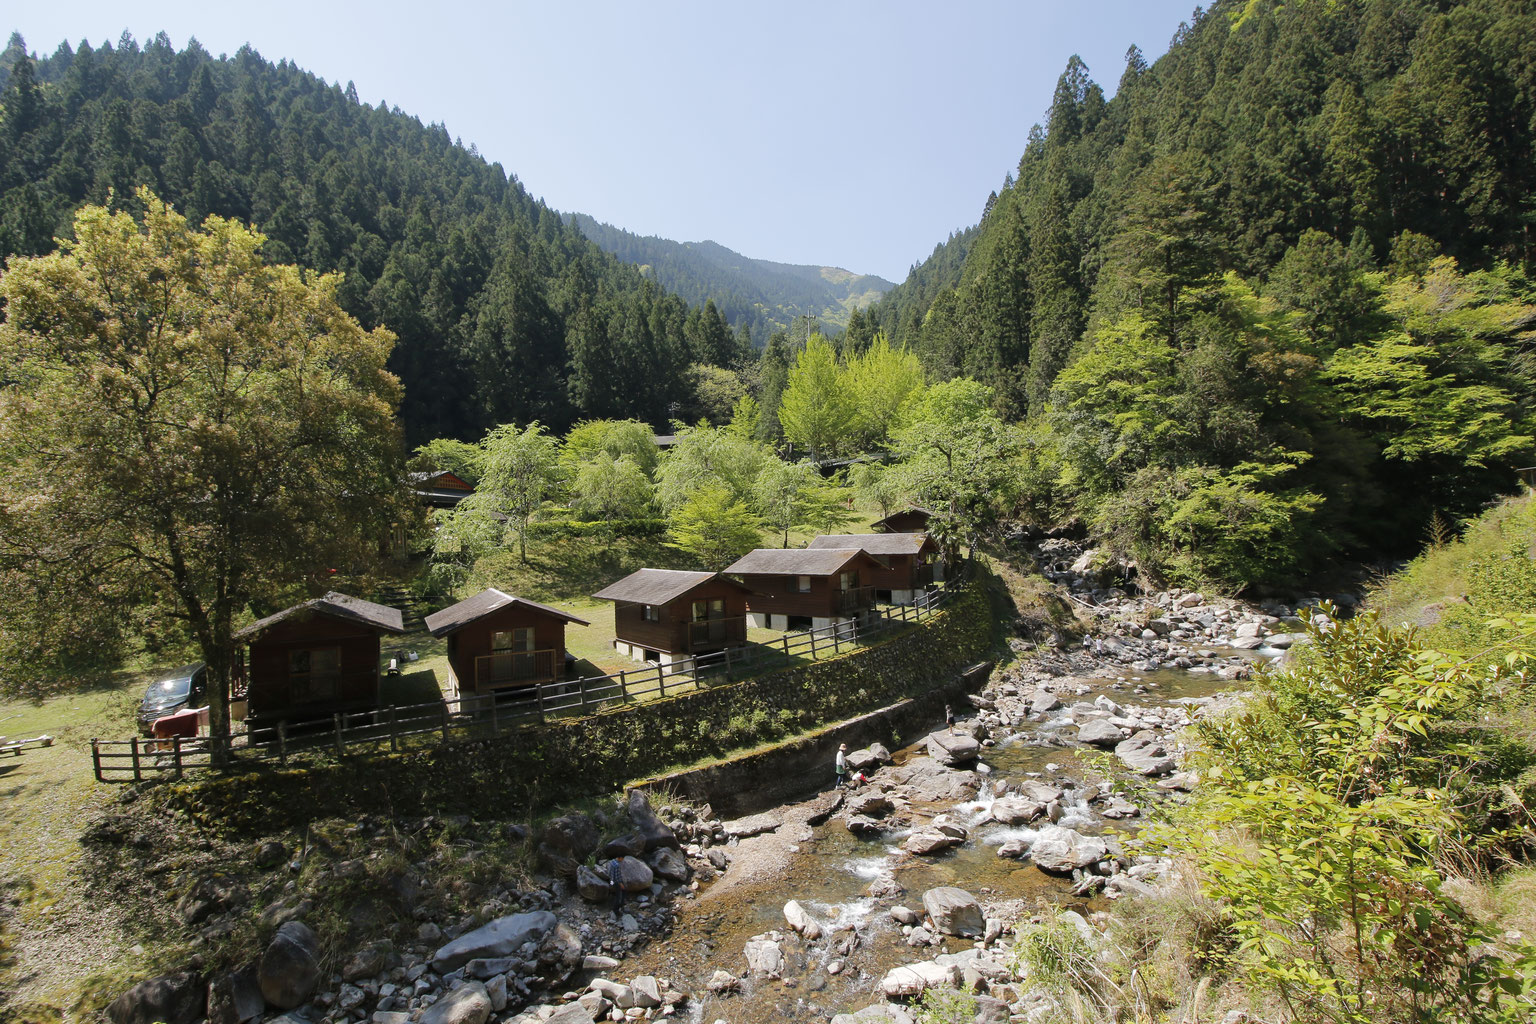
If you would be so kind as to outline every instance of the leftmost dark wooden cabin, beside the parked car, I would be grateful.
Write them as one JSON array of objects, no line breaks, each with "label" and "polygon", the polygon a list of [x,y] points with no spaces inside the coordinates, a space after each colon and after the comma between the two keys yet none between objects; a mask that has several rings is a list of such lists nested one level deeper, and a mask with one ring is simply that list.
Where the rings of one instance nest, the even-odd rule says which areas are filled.
[{"label": "leftmost dark wooden cabin, beside the parked car", "polygon": [[270,723],[379,706],[379,637],[404,633],[398,608],[330,591],[235,634],[247,720]]}]

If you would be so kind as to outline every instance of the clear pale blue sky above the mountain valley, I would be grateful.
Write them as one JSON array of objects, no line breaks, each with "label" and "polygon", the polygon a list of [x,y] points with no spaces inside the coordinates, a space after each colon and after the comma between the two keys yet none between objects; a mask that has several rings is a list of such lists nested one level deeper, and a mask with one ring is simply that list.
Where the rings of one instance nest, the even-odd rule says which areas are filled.
[{"label": "clear pale blue sky above the mountain valley", "polygon": [[892,281],[975,223],[1068,57],[1106,91],[1190,0],[15,5],[0,28],[243,43],[356,83],[561,210]]}]

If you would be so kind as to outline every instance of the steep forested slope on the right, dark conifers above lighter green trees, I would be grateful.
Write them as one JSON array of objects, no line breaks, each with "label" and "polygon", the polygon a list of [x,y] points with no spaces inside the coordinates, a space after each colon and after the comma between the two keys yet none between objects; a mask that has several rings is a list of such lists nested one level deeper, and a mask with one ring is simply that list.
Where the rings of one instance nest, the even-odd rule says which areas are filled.
[{"label": "steep forested slope on the right, dark conifers above lighter green trees", "polygon": [[1533,210],[1536,5],[1223,0],[1111,100],[1074,58],[859,330],[1028,419],[1038,508],[1164,560],[1247,534],[1220,574],[1266,577],[1513,485]]}]

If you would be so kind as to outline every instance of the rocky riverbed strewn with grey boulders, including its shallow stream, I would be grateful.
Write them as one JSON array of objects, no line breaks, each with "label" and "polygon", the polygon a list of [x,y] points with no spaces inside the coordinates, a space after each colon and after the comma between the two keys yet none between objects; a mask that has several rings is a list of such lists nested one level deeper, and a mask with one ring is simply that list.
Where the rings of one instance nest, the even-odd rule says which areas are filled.
[{"label": "rocky riverbed strewn with grey boulders, including its shallow stream", "polygon": [[[339,963],[323,958],[289,883],[261,912],[278,930],[249,967],[206,978],[194,963],[109,1015],[190,1022],[206,998],[217,1024],[900,1024],[923,990],[948,986],[978,995],[977,1019],[1034,1019],[1048,996],[1009,960],[1017,929],[1066,910],[1097,935],[1114,900],[1169,875],[1124,838],[1198,786],[1181,769],[1186,726],[1230,706],[1255,660],[1301,628],[1296,606],[1117,586],[1117,567],[1071,542],[1037,557],[1084,636],[1017,637],[1020,657],[952,728],[854,751],[860,781],[846,789],[829,789],[828,749],[826,780],[808,780],[826,791],[748,818],[631,792],[538,835],[513,826],[504,838],[536,854],[538,886],[490,881],[478,906],[402,900],[409,933]],[[206,895],[217,926],[221,897]]]}]

